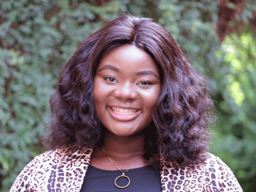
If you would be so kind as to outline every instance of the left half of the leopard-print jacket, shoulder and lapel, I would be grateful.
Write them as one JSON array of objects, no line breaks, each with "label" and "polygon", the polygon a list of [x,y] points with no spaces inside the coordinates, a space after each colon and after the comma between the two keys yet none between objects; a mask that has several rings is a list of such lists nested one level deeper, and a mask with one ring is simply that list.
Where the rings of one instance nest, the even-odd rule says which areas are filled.
[{"label": "left half of the leopard-print jacket, shoulder and lapel", "polygon": [[62,146],[35,157],[9,192],[79,192],[92,149]]}]

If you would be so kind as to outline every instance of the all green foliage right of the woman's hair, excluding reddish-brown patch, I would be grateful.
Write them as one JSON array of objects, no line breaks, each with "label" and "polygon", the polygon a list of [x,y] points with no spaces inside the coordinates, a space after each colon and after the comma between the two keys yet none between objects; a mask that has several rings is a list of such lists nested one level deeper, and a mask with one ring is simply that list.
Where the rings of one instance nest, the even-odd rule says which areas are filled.
[{"label": "all green foliage right of the woman's hair, excluding reddish-brown patch", "polygon": [[[237,33],[220,44],[215,32],[217,2],[173,2],[160,2],[159,23],[171,32],[192,65],[206,75],[218,115],[212,129],[218,134],[210,152],[224,160],[238,179],[251,182],[256,175],[256,34],[240,24]],[[255,5],[248,2],[238,22],[247,23],[252,9]]]}]

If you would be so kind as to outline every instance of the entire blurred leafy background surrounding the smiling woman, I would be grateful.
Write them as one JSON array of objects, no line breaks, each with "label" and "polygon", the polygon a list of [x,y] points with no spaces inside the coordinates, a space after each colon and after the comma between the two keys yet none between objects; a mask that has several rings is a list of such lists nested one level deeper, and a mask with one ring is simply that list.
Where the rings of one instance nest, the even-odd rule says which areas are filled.
[{"label": "entire blurred leafy background surrounding the smiling woman", "polygon": [[[244,192],[256,191],[256,3],[221,2],[0,0],[0,191],[45,151],[40,136],[59,69],[79,43],[127,12],[163,25],[206,76],[218,115],[210,152],[229,165]],[[232,18],[223,17],[223,6]]]}]

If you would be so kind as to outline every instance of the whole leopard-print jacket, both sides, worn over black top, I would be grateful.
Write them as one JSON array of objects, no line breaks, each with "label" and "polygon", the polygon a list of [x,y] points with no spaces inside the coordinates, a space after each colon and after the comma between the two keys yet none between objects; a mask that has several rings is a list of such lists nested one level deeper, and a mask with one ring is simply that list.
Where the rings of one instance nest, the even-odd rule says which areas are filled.
[{"label": "whole leopard-print jacket, both sides, worn over black top", "polygon": [[[63,146],[35,157],[10,192],[80,192],[92,149]],[[162,192],[242,192],[227,165],[215,155],[196,169],[163,165]]]}]

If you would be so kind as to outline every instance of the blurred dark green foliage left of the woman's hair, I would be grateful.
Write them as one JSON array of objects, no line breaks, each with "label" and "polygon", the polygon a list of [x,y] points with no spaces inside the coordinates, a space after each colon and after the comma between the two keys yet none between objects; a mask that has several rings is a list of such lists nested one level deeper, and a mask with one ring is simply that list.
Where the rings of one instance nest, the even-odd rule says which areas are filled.
[{"label": "blurred dark green foliage left of the woman's hair", "polygon": [[59,68],[120,8],[117,2],[102,8],[75,0],[2,0],[0,6],[0,191],[8,191],[45,151],[40,136]]}]

